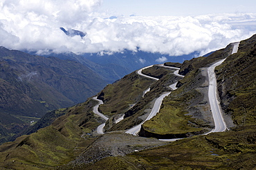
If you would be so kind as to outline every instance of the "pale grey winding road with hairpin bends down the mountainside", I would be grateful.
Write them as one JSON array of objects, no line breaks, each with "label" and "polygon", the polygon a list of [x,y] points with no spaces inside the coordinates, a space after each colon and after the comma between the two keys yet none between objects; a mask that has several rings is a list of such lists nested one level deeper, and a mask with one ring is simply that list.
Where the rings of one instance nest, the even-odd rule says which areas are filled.
[{"label": "pale grey winding road with hairpin bends down the mountainside", "polygon": [[[232,54],[237,52],[238,47],[239,47],[239,42],[234,43]],[[221,113],[221,106],[219,105],[218,93],[217,93],[217,81],[216,81],[216,76],[215,76],[215,73],[214,73],[215,67],[217,67],[218,65],[221,65],[221,63],[223,63],[223,61],[225,61],[225,59],[223,59],[221,61],[218,61],[217,63],[214,63],[213,65],[208,67],[208,78],[209,78],[208,98],[209,98],[209,102],[210,102],[210,108],[211,108],[211,111],[212,111],[212,117],[214,119],[215,127],[214,127],[214,129],[212,129],[212,131],[208,132],[207,134],[210,134],[210,133],[213,133],[213,132],[226,131],[226,129],[227,129],[226,123],[225,123],[225,121],[223,119],[223,116],[222,116],[222,113]],[[143,70],[145,70],[149,67],[152,67],[152,66],[153,65],[143,67],[142,69],[137,71],[137,74],[139,74],[140,76],[145,76],[147,78],[152,78],[152,79],[158,81],[159,80],[158,78],[154,78],[152,76],[147,76],[147,75],[142,73]],[[159,65],[159,66],[176,69],[174,74],[176,76],[184,77],[184,76],[179,74],[179,68],[177,68],[177,67],[169,67],[169,66],[165,66],[163,64]],[[174,84],[170,85],[170,87],[175,90],[176,89],[176,84],[177,83],[174,83]],[[149,92],[149,90],[150,90],[150,88],[145,90],[145,92],[143,92],[143,96],[145,95],[145,93]],[[147,121],[147,120],[150,120],[152,117],[156,116],[156,114],[158,113],[158,111],[161,108],[163,98],[165,98],[165,96],[168,96],[170,93],[171,92],[166,92],[165,94],[162,94],[160,97],[156,98],[156,101],[154,103],[152,111],[150,112],[149,116],[147,116],[146,120],[143,121],[143,123],[145,123],[145,121]],[[107,116],[104,116],[104,114],[101,114],[98,111],[99,105],[103,104],[102,100],[98,100],[97,97],[94,97],[93,99],[97,100],[99,102],[98,105],[95,105],[95,107],[93,107],[93,112],[95,114],[98,114],[98,116],[104,118],[104,120],[108,120],[109,118],[107,118]],[[143,123],[140,123],[139,125],[136,125],[135,127],[132,127],[131,129],[127,130],[125,133],[132,134],[134,136],[138,136],[138,132],[140,131],[141,125],[143,125]],[[102,125],[100,125],[97,128],[98,134],[104,134],[104,132],[103,132],[104,126],[105,126],[105,123],[103,123]],[[207,135],[207,134],[204,134],[204,135]],[[176,140],[180,140],[180,139],[181,138],[160,139],[160,140],[172,142],[172,141],[176,141]]]}]

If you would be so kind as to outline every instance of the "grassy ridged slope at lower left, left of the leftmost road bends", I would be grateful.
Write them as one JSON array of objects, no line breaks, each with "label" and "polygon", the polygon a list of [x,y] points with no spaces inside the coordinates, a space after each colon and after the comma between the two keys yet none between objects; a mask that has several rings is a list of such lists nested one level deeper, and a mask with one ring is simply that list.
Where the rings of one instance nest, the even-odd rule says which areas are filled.
[{"label": "grassy ridged slope at lower left, left of the leftmost road bends", "polygon": [[92,130],[100,125],[100,119],[92,112],[94,105],[94,100],[88,100],[60,110],[66,114],[52,125],[1,145],[0,167],[52,169],[70,162],[96,139],[90,137]]}]

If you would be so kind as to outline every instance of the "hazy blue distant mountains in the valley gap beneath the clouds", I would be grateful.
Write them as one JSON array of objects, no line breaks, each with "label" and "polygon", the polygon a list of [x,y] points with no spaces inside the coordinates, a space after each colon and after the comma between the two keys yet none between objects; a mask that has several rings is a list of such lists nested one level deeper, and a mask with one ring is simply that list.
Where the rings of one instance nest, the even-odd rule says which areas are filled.
[{"label": "hazy blue distant mountains in the valley gap beneath the clouds", "polygon": [[[36,54],[36,52],[28,53]],[[183,63],[185,60],[199,56],[199,52],[193,52],[192,54],[183,56],[169,56],[168,54],[143,52],[140,50],[137,52],[124,50],[122,52],[84,53],[79,55],[73,52],[57,54],[50,51],[48,54],[41,55],[46,57],[55,56],[62,60],[77,61],[96,72],[107,83],[113,83],[141,67],[167,61]],[[163,62],[158,61],[159,59],[162,59]]]}]

